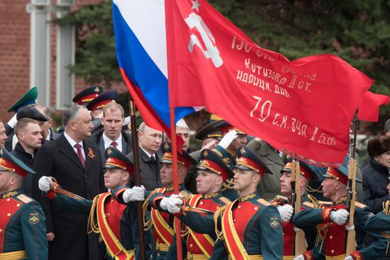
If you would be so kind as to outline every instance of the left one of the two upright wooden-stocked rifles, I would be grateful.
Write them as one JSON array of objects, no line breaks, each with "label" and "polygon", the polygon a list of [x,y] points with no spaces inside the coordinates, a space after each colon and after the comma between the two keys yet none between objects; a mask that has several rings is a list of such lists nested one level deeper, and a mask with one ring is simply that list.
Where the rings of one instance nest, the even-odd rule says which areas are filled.
[{"label": "left one of the two upright wooden-stocked rifles", "polygon": [[[301,211],[301,172],[299,162],[291,162],[291,205],[294,205],[294,214]],[[305,232],[299,230],[295,232],[295,255],[299,256],[306,251]]]}]

